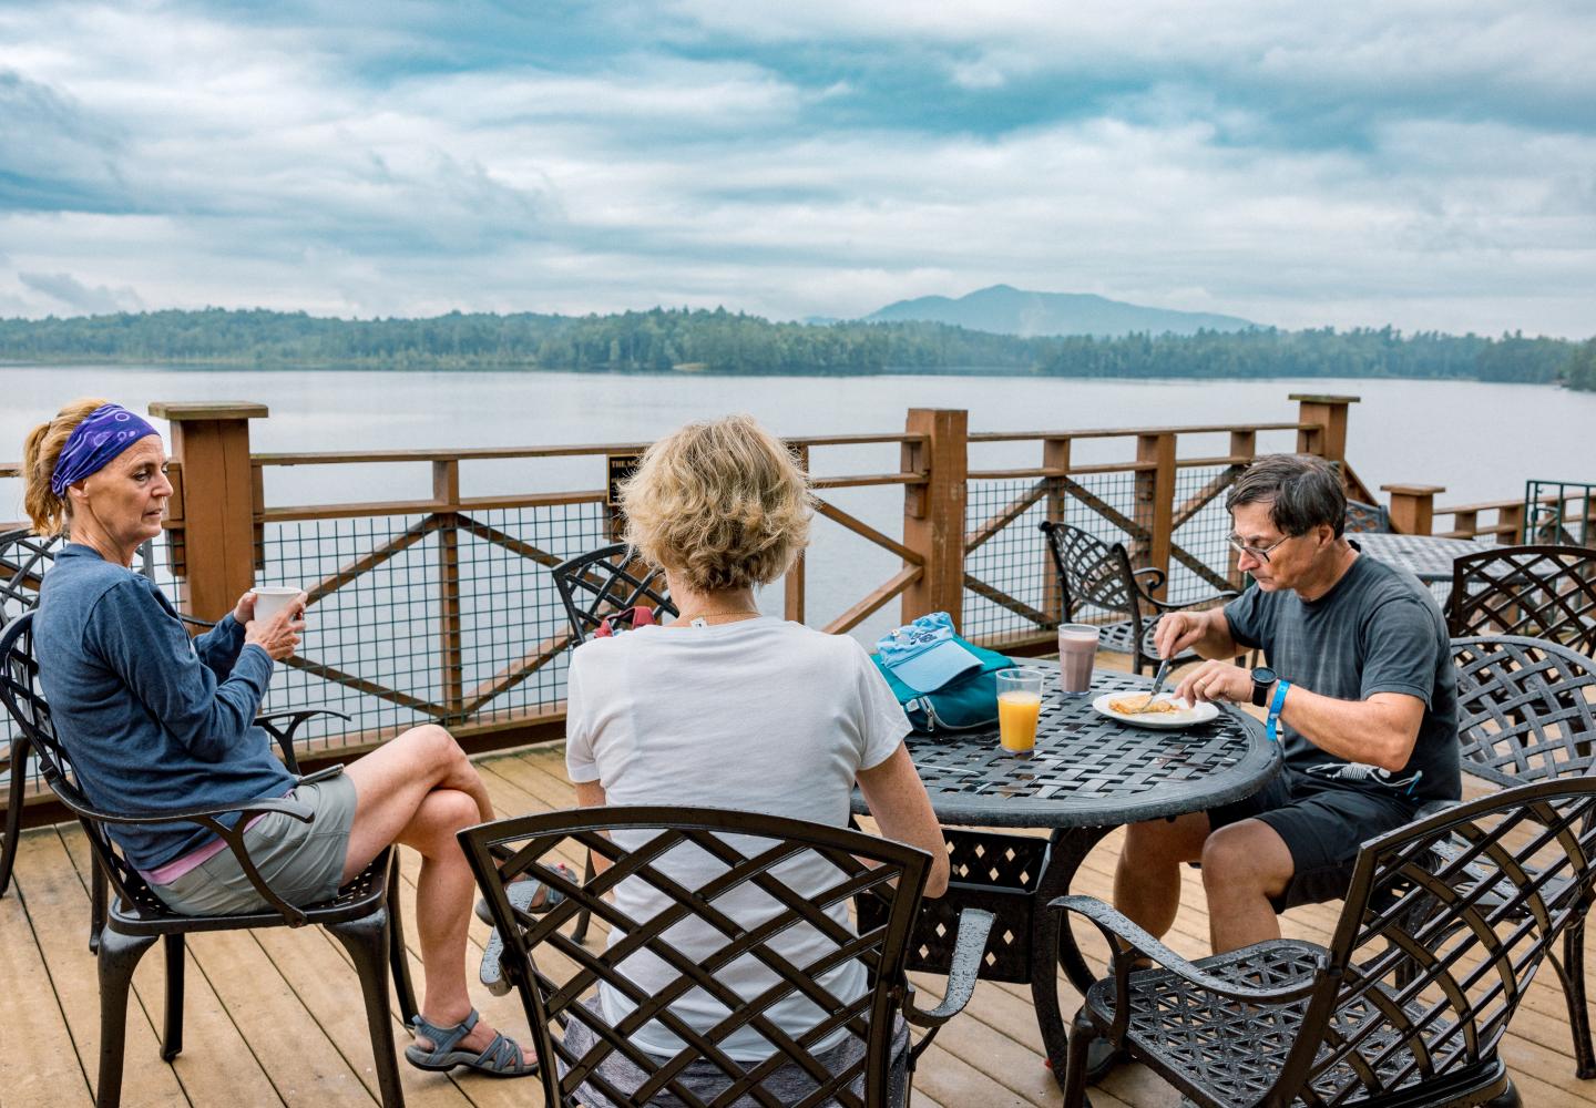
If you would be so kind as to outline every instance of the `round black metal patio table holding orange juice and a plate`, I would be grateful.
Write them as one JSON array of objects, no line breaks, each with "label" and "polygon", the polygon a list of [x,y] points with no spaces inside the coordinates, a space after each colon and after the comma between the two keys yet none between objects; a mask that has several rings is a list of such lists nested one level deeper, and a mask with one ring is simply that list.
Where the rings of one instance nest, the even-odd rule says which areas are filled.
[{"label": "round black metal patio table holding orange juice and a plate", "polygon": [[[1151,679],[1098,671],[1090,693],[1065,696],[1057,663],[1026,664],[1044,672],[1029,758],[1004,754],[996,725],[908,738],[930,806],[948,829],[953,865],[948,894],[921,908],[910,968],[946,972],[959,910],[993,912],[980,975],[1031,987],[1053,1076],[1063,1081],[1068,1038],[1055,966],[1082,993],[1093,974],[1049,902],[1069,892],[1085,856],[1116,827],[1250,797],[1280,771],[1280,749],[1229,704],[1218,718],[1183,730],[1132,726],[1098,714],[1092,701],[1146,690]],[[868,813],[857,792],[854,811]],[[959,830],[966,827],[1045,827],[1052,835]]]}]

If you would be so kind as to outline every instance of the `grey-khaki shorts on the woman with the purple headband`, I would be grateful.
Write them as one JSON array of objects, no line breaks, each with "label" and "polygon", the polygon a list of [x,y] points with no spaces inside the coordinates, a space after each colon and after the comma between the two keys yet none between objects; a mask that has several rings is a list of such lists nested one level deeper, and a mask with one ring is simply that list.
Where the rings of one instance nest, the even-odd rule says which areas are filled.
[{"label": "grey-khaki shorts on the woman with the purple headband", "polygon": [[[354,782],[348,774],[294,789],[289,797],[308,805],[308,824],[284,813],[262,816],[244,829],[244,846],[262,880],[284,900],[308,907],[338,892],[343,861],[354,827]],[[171,884],[152,884],[169,908],[185,916],[233,915],[267,907],[244,877],[231,849],[207,857]]]}]

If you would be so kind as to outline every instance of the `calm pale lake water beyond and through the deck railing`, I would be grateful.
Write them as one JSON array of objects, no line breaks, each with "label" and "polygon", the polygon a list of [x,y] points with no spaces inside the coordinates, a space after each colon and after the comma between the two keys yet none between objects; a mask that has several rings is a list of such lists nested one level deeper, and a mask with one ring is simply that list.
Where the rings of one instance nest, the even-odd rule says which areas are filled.
[{"label": "calm pale lake water beyond and through the deck railing", "polygon": [[[1404,380],[1119,382],[990,375],[681,377],[21,366],[0,367],[0,394],[5,396],[0,460],[19,458],[27,428],[49,417],[64,401],[85,394],[107,396],[139,412],[152,401],[263,402],[271,417],[254,421],[254,449],[294,452],[646,441],[686,420],[726,412],[750,412],[787,436],[891,433],[903,428],[905,410],[911,406],[967,409],[972,431],[1275,423],[1296,420],[1291,393],[1363,398],[1352,409],[1347,457],[1371,487],[1390,482],[1446,485],[1441,503],[1467,503],[1521,497],[1527,477],[1596,481],[1596,449],[1591,445],[1596,394],[1550,386]],[[1261,436],[1258,445],[1261,452],[1290,450],[1294,433]],[[1130,460],[1133,452],[1133,441],[1082,441],[1073,458],[1077,463],[1119,461]],[[1181,441],[1183,457],[1226,452],[1224,436]],[[1037,442],[982,445],[972,449],[972,468],[1034,466],[1041,461],[1039,453]],[[817,449],[812,468],[819,474],[895,471],[899,447]],[[602,457],[466,463],[461,473],[468,497],[598,489],[602,484]],[[429,495],[429,466],[417,463],[267,471],[267,503],[271,506]],[[900,489],[825,495],[878,530],[900,533]],[[0,481],[0,519],[21,517],[21,484]],[[279,567],[278,576],[316,580],[353,551],[370,549],[386,538],[386,532],[378,528],[367,535],[364,527],[351,525],[332,543],[311,540],[338,549],[327,549],[326,559],[314,565]],[[592,530],[591,520],[587,530]],[[562,551],[557,535],[551,538],[546,549]],[[1033,591],[1041,588],[1044,572],[1037,540],[1036,532],[1028,530],[1025,546],[1012,548],[1012,557],[1023,559],[1025,572],[1034,578],[1028,586]],[[546,540],[528,536],[528,541]],[[420,613],[404,610],[409,597],[436,594],[433,564],[420,548],[415,552],[410,564],[402,559],[389,564],[388,576],[362,578],[359,591],[340,591],[318,605],[319,626],[306,639],[311,656],[359,669],[383,683],[413,688],[425,698],[436,696],[428,677],[436,672],[431,656],[436,627]],[[990,557],[991,549],[986,554]],[[1219,564],[1223,557],[1221,549]],[[827,623],[897,570],[897,559],[886,551],[822,522],[809,552],[808,621],[812,626]],[[1009,588],[996,578],[985,580]],[[466,658],[468,688],[501,672],[563,623],[557,602],[551,607],[552,596],[544,583],[531,576],[484,576],[480,588],[500,589],[500,594],[466,597],[474,621],[468,650],[477,651]],[[533,588],[544,591],[504,594],[506,589]],[[761,605],[766,611],[782,610],[779,596],[761,597]],[[967,615],[970,611],[967,607]],[[889,603],[855,635],[873,640],[895,623],[895,615],[897,603]],[[539,671],[538,687],[516,690],[506,707],[557,699],[563,694],[562,671],[563,664]],[[300,682],[282,693],[273,691],[275,706],[282,707],[286,702],[278,704],[279,696],[295,704],[335,702],[380,726],[410,720],[393,704],[383,706],[380,715],[370,714],[370,704],[350,699],[348,688]]]}]

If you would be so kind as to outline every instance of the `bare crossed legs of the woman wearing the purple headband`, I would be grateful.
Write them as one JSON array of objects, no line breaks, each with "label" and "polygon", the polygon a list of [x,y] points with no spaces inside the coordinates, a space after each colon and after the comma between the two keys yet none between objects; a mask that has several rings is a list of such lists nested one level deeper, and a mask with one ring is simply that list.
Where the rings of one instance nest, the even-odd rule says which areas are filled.
[{"label": "bare crossed legs of the woman wearing the purple headband", "polygon": [[[421,1015],[450,1027],[471,1012],[466,993],[466,929],[476,880],[455,832],[493,819],[482,778],[440,726],[405,731],[345,771],[358,797],[345,880],[389,843],[421,854],[415,883],[415,932],[426,971]],[[461,1049],[482,1051],[493,1028],[480,1020]]]}]

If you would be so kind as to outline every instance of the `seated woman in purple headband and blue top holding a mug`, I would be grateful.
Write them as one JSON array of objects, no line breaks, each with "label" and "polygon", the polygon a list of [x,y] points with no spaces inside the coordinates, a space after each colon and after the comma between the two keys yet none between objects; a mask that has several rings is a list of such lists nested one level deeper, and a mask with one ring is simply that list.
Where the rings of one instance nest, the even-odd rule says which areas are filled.
[{"label": "seated woman in purple headband and blue top holding a mug", "polygon": [[[493,806],[448,731],[412,728],[342,774],[298,784],[254,718],[273,664],[298,645],[303,600],[255,619],[246,592],[190,640],[172,603],[129,568],[161,533],[172,495],[155,428],[117,404],[75,401],[29,433],[22,468],[34,530],[67,536],[40,588],[34,645],[89,800],[161,811],[292,795],[314,819],[263,816],[244,845],[262,878],[298,905],[330,899],[389,843],[413,846],[426,988],[405,1059],[423,1070],[533,1073],[536,1063],[480,1022],[466,995],[474,881],[455,832],[493,819]],[[176,912],[263,907],[238,857],[209,832],[168,824],[112,835]]]}]

